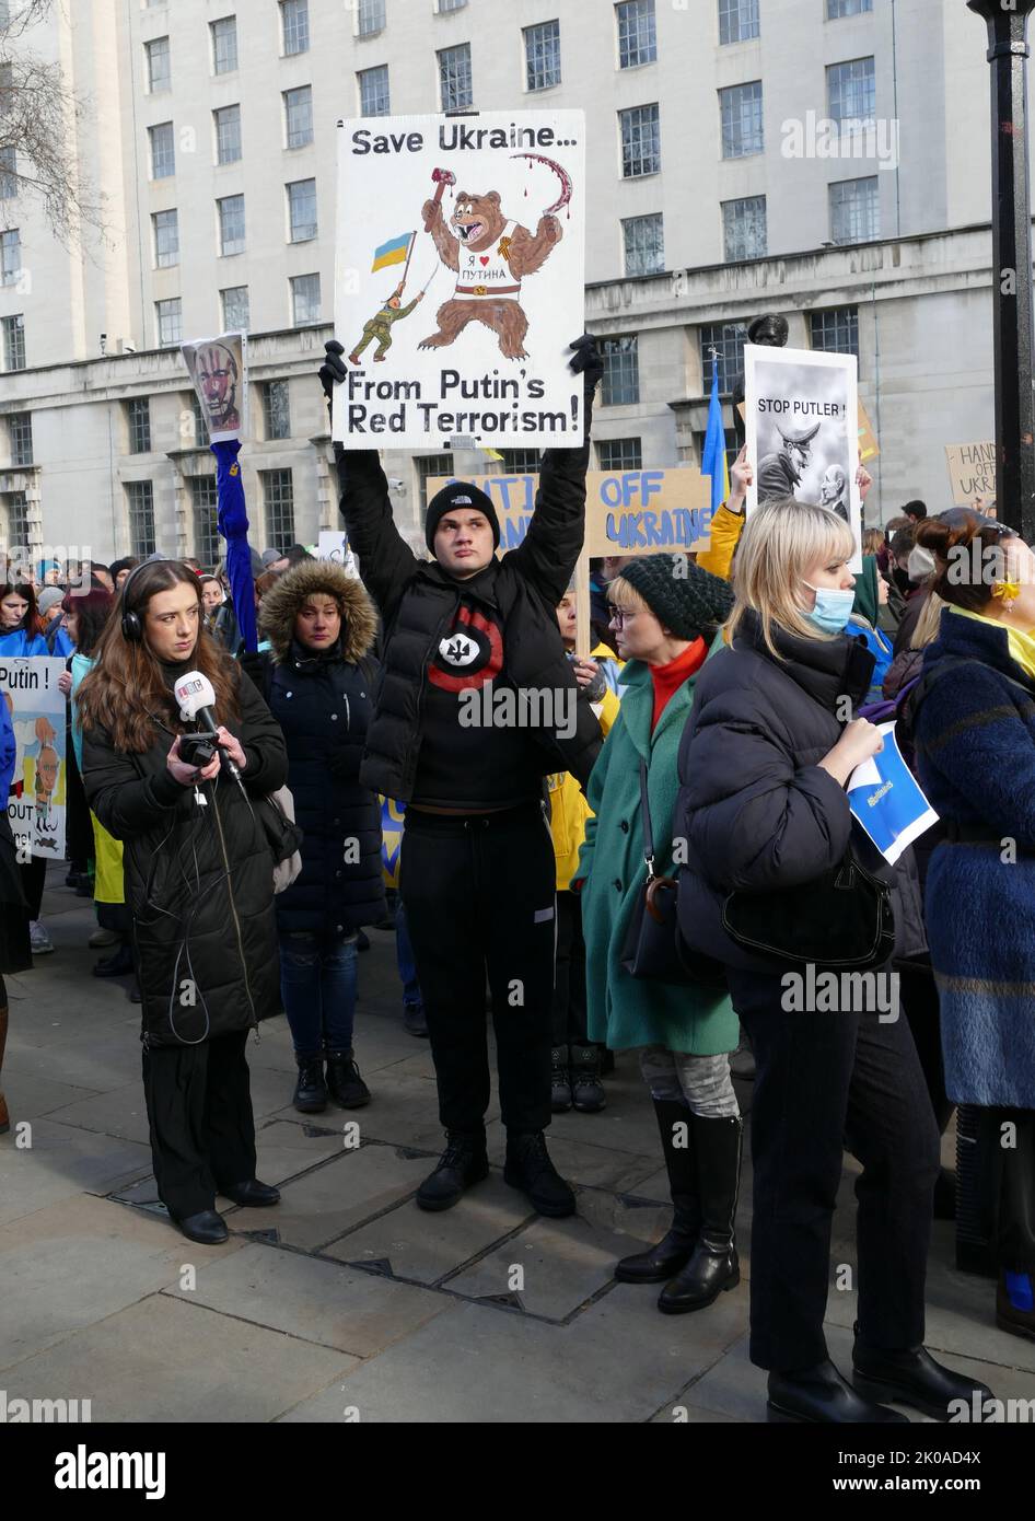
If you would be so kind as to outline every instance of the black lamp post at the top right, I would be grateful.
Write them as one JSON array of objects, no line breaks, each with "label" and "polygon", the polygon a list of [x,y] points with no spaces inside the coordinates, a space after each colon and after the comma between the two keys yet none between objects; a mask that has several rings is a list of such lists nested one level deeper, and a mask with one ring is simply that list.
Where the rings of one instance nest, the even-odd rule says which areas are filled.
[{"label": "black lamp post at the top right", "polygon": [[1032,208],[1027,167],[1027,17],[1035,0],[967,0],[988,23],[992,96],[995,500],[1035,543]]}]

